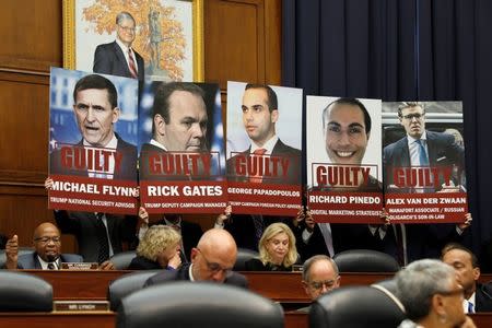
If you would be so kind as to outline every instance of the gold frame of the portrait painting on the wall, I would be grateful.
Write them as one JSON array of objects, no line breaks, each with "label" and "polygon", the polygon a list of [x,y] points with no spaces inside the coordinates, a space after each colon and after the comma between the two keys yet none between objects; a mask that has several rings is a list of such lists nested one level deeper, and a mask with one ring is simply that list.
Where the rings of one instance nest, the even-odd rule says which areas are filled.
[{"label": "gold frame of the portrait painting on the wall", "polygon": [[[133,2],[149,3],[149,0],[134,0]],[[162,1],[162,0],[161,0]],[[192,16],[192,40],[187,39],[187,44],[192,45],[191,60],[192,62],[192,81],[203,82],[204,79],[204,63],[203,63],[203,1],[204,0],[174,0],[174,2],[191,2],[191,16]],[[94,1],[87,1],[94,3]],[[97,2],[97,1],[95,1]],[[155,2],[155,1],[152,1]],[[173,2],[173,0],[167,0],[166,3]],[[63,68],[72,70],[85,70],[92,71],[92,67],[89,70],[87,66],[85,68],[78,67],[78,40],[77,40],[77,17],[75,17],[75,5],[82,5],[83,1],[80,0],[63,0]],[[131,11],[130,11],[131,12]],[[189,23],[189,22],[185,22]],[[137,36],[138,37],[138,36]],[[95,48],[96,45],[94,45]],[[85,50],[85,48],[84,48]],[[139,54],[140,49],[138,49]],[[144,52],[144,51],[142,51]],[[83,54],[89,56],[87,54]],[[91,54],[93,55],[93,54]],[[189,62],[188,62],[189,66]],[[189,74],[188,74],[189,75]],[[189,80],[189,79],[184,79]]]}]

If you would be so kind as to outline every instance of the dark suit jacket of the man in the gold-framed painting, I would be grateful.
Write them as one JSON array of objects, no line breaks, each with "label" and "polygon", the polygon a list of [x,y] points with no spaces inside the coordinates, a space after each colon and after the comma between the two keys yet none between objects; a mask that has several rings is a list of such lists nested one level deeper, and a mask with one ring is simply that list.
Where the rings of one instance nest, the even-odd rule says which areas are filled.
[{"label": "dark suit jacket of the man in the gold-framed painting", "polygon": [[[133,54],[137,58],[139,80],[142,81],[145,71],[143,58],[134,49]],[[116,40],[96,47],[94,52],[94,67],[92,70],[94,73],[132,78],[125,55]]]}]

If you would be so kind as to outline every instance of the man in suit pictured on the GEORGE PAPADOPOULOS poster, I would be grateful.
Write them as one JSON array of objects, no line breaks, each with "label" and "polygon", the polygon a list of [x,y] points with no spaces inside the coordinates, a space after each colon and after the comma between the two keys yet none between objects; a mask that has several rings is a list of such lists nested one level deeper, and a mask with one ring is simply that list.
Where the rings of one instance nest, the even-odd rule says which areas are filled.
[{"label": "man in suit pictured on the GEORGE PAPADOPOULOS poster", "polygon": [[[250,183],[301,184],[301,150],[286,144],[278,136],[277,125],[281,115],[279,107],[277,92],[271,86],[246,84],[241,110],[243,128],[249,144],[246,150],[241,152],[227,150],[231,155],[227,160],[229,179]],[[233,110],[236,112],[237,108]],[[298,114],[301,115],[301,112]],[[298,131],[301,130],[300,126]],[[263,156],[263,161],[260,161],[262,165],[259,164],[262,166],[260,172],[254,174],[237,169],[248,161],[248,157],[255,156]],[[278,163],[286,165],[279,166]],[[266,172],[272,174],[267,175]]]}]

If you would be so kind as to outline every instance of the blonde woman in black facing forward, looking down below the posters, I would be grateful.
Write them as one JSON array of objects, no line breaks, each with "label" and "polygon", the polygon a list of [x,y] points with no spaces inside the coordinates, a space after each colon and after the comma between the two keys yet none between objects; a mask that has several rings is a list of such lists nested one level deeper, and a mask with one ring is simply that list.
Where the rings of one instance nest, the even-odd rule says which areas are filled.
[{"label": "blonde woman in black facing forward, looking down below the posters", "polygon": [[295,237],[284,223],[272,223],[258,245],[259,258],[246,261],[247,271],[291,271],[297,260]]}]

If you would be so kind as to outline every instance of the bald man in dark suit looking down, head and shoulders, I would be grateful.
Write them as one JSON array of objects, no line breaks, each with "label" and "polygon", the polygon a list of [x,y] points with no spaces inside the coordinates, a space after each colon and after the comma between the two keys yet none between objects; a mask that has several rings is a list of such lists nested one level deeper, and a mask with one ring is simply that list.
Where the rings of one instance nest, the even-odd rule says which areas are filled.
[{"label": "bald man in dark suit looking down, head and shoulders", "polygon": [[207,231],[191,249],[191,263],[176,271],[164,271],[145,281],[145,286],[168,281],[212,281],[247,288],[246,278],[233,272],[236,262],[237,246],[232,235],[221,229]]}]

